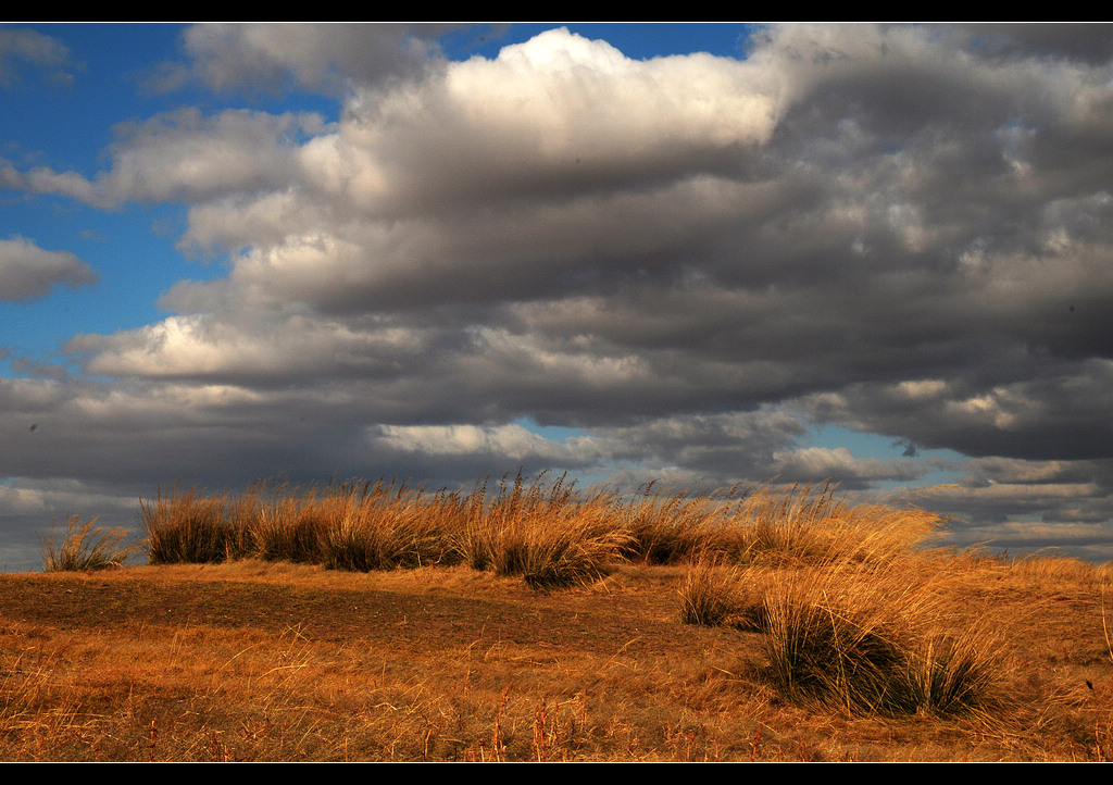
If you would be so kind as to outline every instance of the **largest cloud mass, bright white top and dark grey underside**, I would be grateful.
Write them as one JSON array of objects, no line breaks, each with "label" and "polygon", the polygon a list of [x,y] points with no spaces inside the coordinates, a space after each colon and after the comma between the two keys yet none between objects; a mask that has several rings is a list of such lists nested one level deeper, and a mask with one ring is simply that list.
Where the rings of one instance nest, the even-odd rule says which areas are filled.
[{"label": "largest cloud mass, bright white top and dark grey underside", "polygon": [[161,116],[98,183],[186,200],[184,244],[242,252],[167,294],[179,315],[73,346],[115,375],[364,379],[414,418],[780,401],[966,454],[1099,458],[1113,161],[1056,150],[1096,144],[1102,84],[933,28],[772,28],[745,61],[556,29],[353,82],[335,126]]}]

